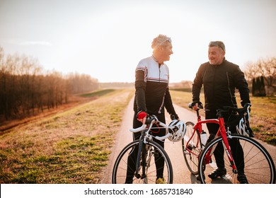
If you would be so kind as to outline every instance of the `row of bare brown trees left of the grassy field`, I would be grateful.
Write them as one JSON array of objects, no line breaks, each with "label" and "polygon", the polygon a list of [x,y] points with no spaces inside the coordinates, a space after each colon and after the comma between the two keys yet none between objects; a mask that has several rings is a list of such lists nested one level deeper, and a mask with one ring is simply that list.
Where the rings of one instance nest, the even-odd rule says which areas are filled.
[{"label": "row of bare brown trees left of the grassy field", "polygon": [[44,71],[36,59],[5,55],[0,47],[0,120],[43,112],[68,103],[72,94],[97,88],[98,80],[90,75]]}]

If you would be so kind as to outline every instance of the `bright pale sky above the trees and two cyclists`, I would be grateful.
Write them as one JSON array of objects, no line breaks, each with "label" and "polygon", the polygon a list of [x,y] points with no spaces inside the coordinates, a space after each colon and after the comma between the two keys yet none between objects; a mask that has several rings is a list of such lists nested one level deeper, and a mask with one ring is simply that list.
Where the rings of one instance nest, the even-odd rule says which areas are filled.
[{"label": "bright pale sky above the trees and two cyclists", "polygon": [[275,0],[0,0],[0,47],[47,71],[133,82],[159,34],[171,37],[170,82],[192,81],[222,40],[242,70],[276,56]]}]

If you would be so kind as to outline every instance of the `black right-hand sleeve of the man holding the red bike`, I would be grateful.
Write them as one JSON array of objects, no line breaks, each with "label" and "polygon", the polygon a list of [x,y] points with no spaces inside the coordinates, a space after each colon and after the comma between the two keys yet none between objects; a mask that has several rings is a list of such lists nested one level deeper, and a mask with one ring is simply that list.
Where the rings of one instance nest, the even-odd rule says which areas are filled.
[{"label": "black right-hand sleeve of the man holding the red bike", "polygon": [[241,95],[241,106],[244,106],[246,103],[251,103],[249,99],[249,88],[246,78],[244,77],[243,71],[236,66],[234,76],[237,76],[235,87],[238,88],[238,92]]}]

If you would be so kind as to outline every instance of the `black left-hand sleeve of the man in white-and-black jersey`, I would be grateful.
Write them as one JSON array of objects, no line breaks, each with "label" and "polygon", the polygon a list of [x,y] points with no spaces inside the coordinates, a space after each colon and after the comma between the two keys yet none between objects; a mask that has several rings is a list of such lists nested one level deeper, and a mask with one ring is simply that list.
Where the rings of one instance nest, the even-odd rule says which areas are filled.
[{"label": "black left-hand sleeve of the man in white-and-black jersey", "polygon": [[137,70],[135,72],[135,100],[137,104],[137,112],[146,111],[146,82],[144,81],[144,71]]}]

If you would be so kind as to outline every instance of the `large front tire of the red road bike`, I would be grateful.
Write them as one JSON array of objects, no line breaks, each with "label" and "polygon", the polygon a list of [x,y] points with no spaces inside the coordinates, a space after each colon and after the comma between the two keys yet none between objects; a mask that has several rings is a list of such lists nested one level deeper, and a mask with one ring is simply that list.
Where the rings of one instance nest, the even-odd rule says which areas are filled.
[{"label": "large front tire of the red road bike", "polygon": [[[243,158],[244,158],[244,174],[247,177],[248,183],[250,184],[274,184],[275,183],[275,164],[272,161],[270,153],[260,144],[258,141],[251,139],[247,136],[242,136],[239,134],[231,134],[231,138],[228,137],[229,144],[231,142],[239,141],[243,148]],[[238,174],[233,173],[230,166],[229,159],[226,156],[224,149],[224,165],[226,168],[226,175],[222,177],[217,177],[216,179],[211,179],[207,175],[217,168],[215,163],[215,158],[212,156],[212,163],[205,164],[205,156],[212,146],[216,146],[221,143],[222,137],[218,137],[212,140],[205,149],[202,151],[199,160],[199,180],[203,184],[236,184],[239,183],[237,176]],[[234,147],[234,146],[232,146]],[[231,148],[232,153],[234,148]],[[234,157],[234,156],[233,156]],[[235,161],[236,167],[238,169],[239,163]],[[202,168],[205,165],[205,168]]]}]

